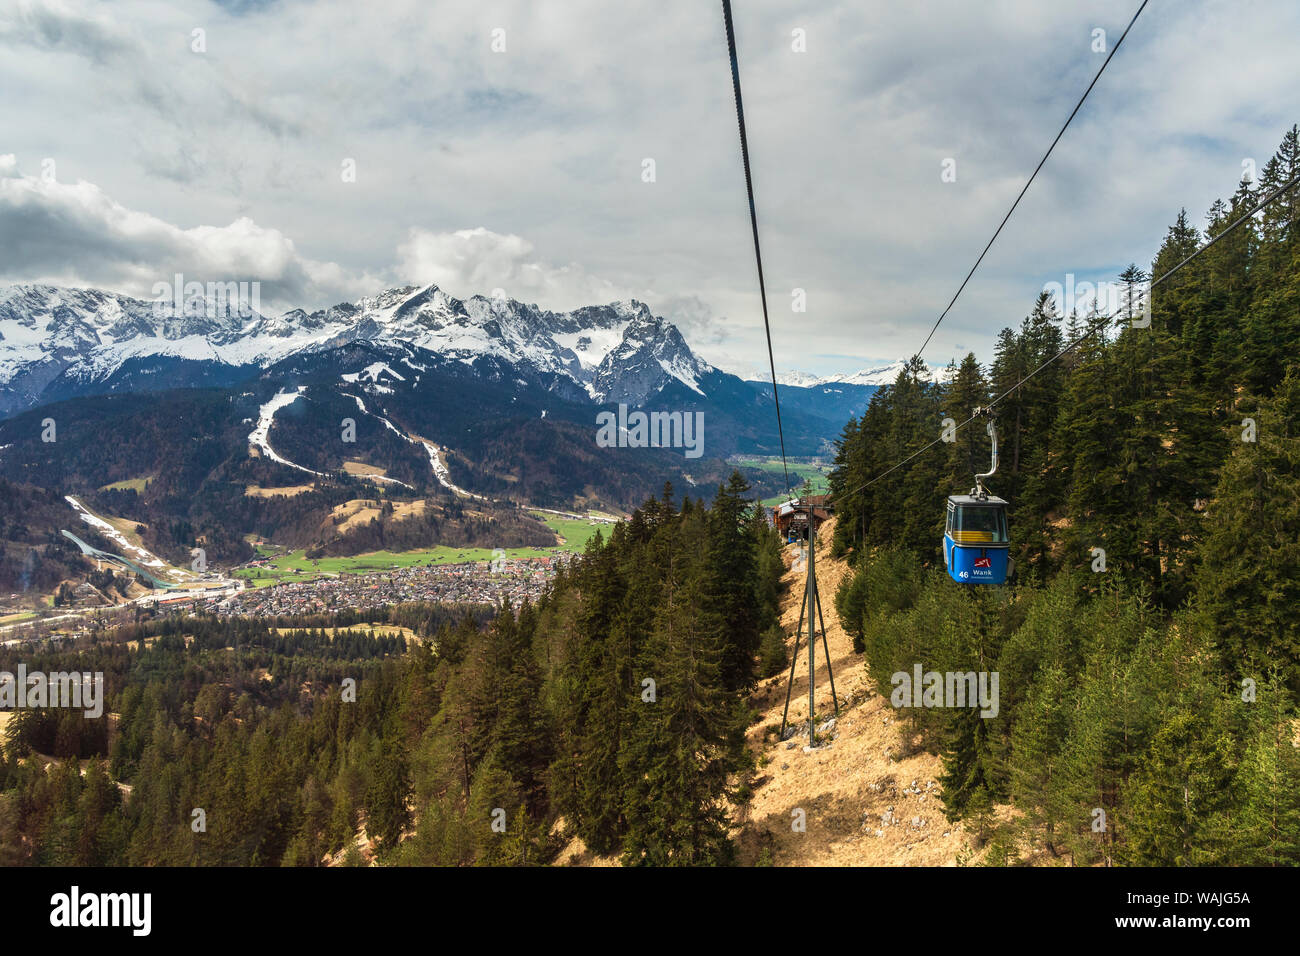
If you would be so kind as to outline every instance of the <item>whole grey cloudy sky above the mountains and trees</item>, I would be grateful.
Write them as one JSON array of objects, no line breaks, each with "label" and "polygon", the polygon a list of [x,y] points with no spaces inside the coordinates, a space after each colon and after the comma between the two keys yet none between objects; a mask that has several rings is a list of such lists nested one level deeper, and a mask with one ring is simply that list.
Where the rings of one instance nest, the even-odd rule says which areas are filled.
[{"label": "whole grey cloudy sky above the mountains and trees", "polygon": [[[779,367],[915,351],[1139,1],[736,0]],[[926,359],[1201,224],[1300,121],[1297,36],[1150,0]],[[711,0],[0,0],[0,282],[634,297],[766,369]]]}]

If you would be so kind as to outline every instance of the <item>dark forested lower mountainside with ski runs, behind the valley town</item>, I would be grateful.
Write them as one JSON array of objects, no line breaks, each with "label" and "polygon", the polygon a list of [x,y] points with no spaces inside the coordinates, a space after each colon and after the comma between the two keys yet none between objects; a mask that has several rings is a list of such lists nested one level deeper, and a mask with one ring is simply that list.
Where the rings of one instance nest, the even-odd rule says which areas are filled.
[{"label": "dark forested lower mountainside with ski runs, behind the valley town", "polygon": [[[611,453],[598,447],[588,424],[594,411],[582,412],[582,424],[536,416],[516,421],[504,414],[485,418],[484,407],[511,407],[508,388],[500,382],[484,386],[484,406],[469,402],[460,408],[463,395],[441,401],[460,394],[452,385],[463,384],[462,377],[436,389],[426,382],[433,394],[421,392],[400,403],[393,397],[391,405],[394,415],[400,411],[396,423],[410,434],[454,442],[442,453],[451,481],[486,496],[473,502],[473,511],[485,520],[467,515],[465,501],[441,485],[420,444],[361,415],[355,398],[324,382],[311,386],[309,401],[282,408],[269,434],[278,454],[321,475],[307,476],[268,457],[250,457],[250,429],[274,390],[269,384],[246,384],[254,390],[239,385],[73,398],[0,420],[0,446],[5,446],[0,488],[56,505],[62,496],[74,494],[99,514],[136,523],[146,548],[186,566],[200,537],[208,561],[217,564],[255,557],[250,535],[332,555],[439,544],[545,546],[554,537],[526,514],[529,506],[623,510],[654,494],[666,477],[684,480],[688,466],[679,450]],[[452,408],[458,410],[455,420],[468,431],[445,432]],[[577,415],[578,406],[566,408],[567,415]],[[343,419],[355,420],[355,442],[341,440]],[[46,420],[57,424],[57,441],[42,440]],[[710,428],[712,442],[716,436]],[[377,486],[348,475],[343,471],[348,463],[380,467],[407,488]],[[689,468],[692,480],[702,486],[725,481],[731,473],[720,458],[699,459]],[[762,470],[741,471],[762,496],[777,490],[777,483]],[[250,489],[261,493],[251,494]],[[339,505],[374,497],[394,505],[436,502],[438,515],[429,512],[413,523],[385,515],[347,532],[332,523]],[[56,587],[60,579],[73,576],[79,562],[70,545],[62,553],[44,546],[62,540],[60,528],[75,520],[70,515],[65,506],[46,507],[44,501],[30,509],[0,503],[0,587],[23,592],[36,581]]]}]

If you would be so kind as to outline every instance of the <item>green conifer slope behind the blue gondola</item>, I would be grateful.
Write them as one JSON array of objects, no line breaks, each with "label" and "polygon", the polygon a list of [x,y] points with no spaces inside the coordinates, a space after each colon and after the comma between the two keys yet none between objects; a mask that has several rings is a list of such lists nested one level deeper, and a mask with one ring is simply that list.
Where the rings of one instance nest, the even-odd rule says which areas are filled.
[{"label": "green conifer slope behind the blue gondola", "polygon": [[[1292,127],[1204,233],[1180,212],[1118,281],[1162,276],[1297,173]],[[1297,220],[1291,187],[1154,289],[1149,328],[1044,293],[988,368],[967,355],[936,384],[914,360],[841,436],[835,548],[857,574],[837,607],[878,688],[915,663],[1000,672],[994,718],[902,711],[991,861],[1300,864]],[[859,488],[1089,329],[994,408],[1017,579],[954,584],[944,498],[988,468],[983,424]]]}]

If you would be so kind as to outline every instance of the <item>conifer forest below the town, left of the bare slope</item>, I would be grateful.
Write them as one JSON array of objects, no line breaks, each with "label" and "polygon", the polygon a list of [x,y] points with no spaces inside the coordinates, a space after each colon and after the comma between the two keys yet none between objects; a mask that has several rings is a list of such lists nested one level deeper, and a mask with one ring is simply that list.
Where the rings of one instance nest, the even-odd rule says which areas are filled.
[{"label": "conifer forest below the town, left of the bare slope", "polygon": [[358,864],[359,827],[384,864],[543,864],[573,836],[629,864],[728,862],[780,572],[736,475],[711,505],[666,488],[537,605],[169,618],[29,653],[103,671],[113,717],[10,719],[3,862]]}]

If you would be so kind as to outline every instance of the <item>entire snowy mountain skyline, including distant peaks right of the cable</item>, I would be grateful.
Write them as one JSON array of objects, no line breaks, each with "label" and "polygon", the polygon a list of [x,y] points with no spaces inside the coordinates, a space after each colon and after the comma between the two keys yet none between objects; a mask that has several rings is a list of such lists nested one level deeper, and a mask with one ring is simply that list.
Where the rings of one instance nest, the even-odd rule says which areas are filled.
[{"label": "entire snowy mountain skyline, including distant peaks right of the cable", "polygon": [[[803,431],[815,442],[861,415],[902,367],[822,377],[789,372],[779,377],[783,406],[810,416]],[[722,412],[736,434],[755,440],[771,425],[767,381],[746,382],[708,364],[672,323],[634,299],[551,312],[507,298],[462,300],[429,285],[265,316],[211,290],[157,303],[99,289],[0,289],[0,418],[108,393],[231,389],[251,378],[296,388],[328,369],[338,385],[376,397],[450,388],[429,399],[443,410],[451,395],[486,402],[486,412],[550,395],[567,403],[571,419],[592,403],[667,403]],[[944,369],[931,375],[941,380]],[[495,382],[497,390],[489,398],[471,381]],[[523,399],[525,392],[533,398]]]}]

